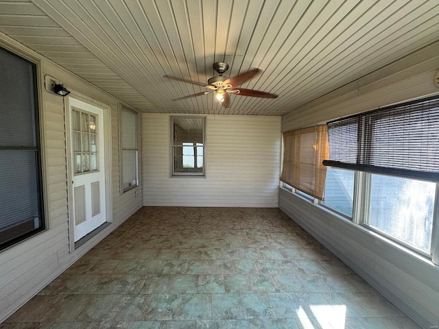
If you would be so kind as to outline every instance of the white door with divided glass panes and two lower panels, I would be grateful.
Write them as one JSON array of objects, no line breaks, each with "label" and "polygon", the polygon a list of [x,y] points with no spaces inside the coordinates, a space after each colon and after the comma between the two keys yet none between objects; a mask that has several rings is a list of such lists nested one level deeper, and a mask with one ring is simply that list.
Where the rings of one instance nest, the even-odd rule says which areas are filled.
[{"label": "white door with divided glass panes and two lower panels", "polygon": [[74,241],[106,222],[104,110],[69,97]]}]

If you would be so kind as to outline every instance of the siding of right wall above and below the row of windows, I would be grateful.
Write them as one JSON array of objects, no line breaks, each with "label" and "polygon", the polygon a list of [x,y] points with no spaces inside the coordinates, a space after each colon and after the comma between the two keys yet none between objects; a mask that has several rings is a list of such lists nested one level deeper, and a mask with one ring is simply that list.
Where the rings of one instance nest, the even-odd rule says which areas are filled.
[{"label": "siding of right wall above and below the row of windows", "polygon": [[[283,132],[439,92],[436,42],[283,117]],[[279,208],[423,328],[439,324],[439,267],[281,188]]]}]

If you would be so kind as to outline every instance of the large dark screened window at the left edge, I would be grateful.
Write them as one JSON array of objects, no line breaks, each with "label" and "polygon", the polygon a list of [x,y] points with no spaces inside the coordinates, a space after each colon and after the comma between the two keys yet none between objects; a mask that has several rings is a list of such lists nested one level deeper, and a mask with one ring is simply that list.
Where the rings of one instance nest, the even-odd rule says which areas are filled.
[{"label": "large dark screened window at the left edge", "polygon": [[[44,230],[36,64],[0,47],[0,249]],[[13,83],[12,83],[13,82]]]}]

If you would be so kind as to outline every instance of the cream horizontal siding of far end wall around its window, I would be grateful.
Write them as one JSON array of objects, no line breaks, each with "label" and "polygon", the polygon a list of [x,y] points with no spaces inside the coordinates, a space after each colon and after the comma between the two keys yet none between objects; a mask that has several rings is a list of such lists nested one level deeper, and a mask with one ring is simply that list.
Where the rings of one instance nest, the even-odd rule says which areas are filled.
[{"label": "cream horizontal siding of far end wall around its window", "polygon": [[142,117],[143,206],[278,206],[281,117],[207,115],[205,178],[170,177],[170,117]]}]

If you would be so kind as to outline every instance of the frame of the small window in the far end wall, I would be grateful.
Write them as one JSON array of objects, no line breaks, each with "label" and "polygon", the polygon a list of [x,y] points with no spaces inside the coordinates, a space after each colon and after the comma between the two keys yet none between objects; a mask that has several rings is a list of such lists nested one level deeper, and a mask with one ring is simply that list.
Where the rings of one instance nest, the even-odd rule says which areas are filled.
[{"label": "frame of the small window in the far end wall", "polygon": [[[197,167],[197,154],[198,154],[198,147],[202,147],[203,149],[203,166],[202,166],[202,171],[201,172],[190,172],[190,171],[185,171],[185,172],[179,172],[179,171],[175,171],[175,162],[174,162],[174,149],[176,147],[176,145],[174,145],[174,119],[202,119],[202,128],[203,128],[203,133],[202,133],[202,146],[200,145],[196,145],[197,143],[193,143],[195,145],[189,146],[189,147],[193,147],[194,148],[194,167]],[[170,145],[170,149],[169,149],[169,161],[170,161],[170,176],[171,177],[206,177],[206,117],[205,116],[171,116],[170,117],[170,132],[169,132],[169,145]],[[188,142],[189,143],[189,142]],[[178,147],[180,147],[180,145],[178,145]],[[183,145],[181,146],[183,147]]]}]

